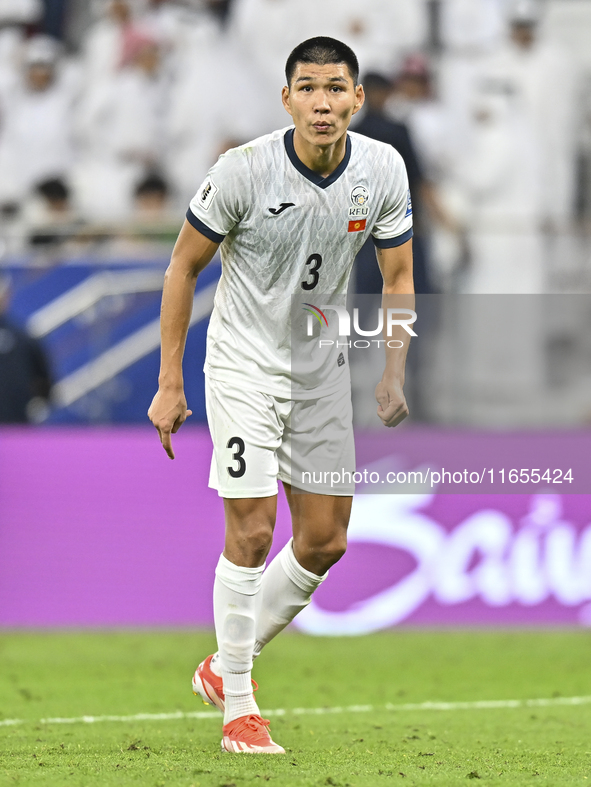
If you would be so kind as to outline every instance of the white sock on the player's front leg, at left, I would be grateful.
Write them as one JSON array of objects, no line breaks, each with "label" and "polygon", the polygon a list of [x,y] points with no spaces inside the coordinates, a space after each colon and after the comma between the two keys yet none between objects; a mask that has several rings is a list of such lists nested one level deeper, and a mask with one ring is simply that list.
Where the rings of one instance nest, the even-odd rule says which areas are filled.
[{"label": "white sock on the player's front leg, at left", "polygon": [[255,638],[255,603],[264,570],[264,566],[236,566],[223,555],[215,570],[213,614],[226,696],[224,724],[249,713],[259,714],[252,694],[250,672]]}]

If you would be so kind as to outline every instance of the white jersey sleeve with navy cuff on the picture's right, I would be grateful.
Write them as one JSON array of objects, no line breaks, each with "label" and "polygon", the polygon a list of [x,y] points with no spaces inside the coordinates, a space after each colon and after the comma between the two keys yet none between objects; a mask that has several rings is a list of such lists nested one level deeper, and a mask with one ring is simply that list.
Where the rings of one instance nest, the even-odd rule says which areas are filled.
[{"label": "white jersey sleeve with navy cuff on the picture's right", "polygon": [[390,186],[371,234],[376,246],[391,249],[412,238],[412,203],[402,156],[392,148],[385,163],[391,173]]}]

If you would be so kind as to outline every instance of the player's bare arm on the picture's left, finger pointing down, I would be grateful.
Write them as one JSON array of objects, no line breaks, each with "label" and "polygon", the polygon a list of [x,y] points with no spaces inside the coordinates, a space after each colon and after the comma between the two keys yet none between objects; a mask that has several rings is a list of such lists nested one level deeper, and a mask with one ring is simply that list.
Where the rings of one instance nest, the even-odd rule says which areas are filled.
[{"label": "player's bare arm on the picture's left, finger pointing down", "polygon": [[191,415],[183,384],[183,353],[191,319],[197,276],[218,249],[216,243],[185,220],[164,276],[160,310],[160,375],[148,417],[158,430],[168,456],[174,459],[171,434]]}]

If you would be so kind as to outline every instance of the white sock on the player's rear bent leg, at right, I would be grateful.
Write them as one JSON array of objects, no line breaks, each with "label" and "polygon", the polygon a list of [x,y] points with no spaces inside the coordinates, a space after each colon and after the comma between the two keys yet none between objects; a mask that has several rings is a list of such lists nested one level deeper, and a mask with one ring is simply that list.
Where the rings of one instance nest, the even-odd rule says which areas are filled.
[{"label": "white sock on the player's rear bent leg, at right", "polygon": [[327,576],[328,571],[319,577],[302,568],[293,553],[293,538],[288,541],[263,574],[257,596],[253,658],[308,606],[312,593]]}]

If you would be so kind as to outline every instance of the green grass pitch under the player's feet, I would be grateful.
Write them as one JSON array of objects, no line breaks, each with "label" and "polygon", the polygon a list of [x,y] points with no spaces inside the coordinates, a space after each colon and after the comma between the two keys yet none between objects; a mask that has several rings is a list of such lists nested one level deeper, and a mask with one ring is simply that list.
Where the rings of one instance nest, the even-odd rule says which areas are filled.
[{"label": "green grass pitch under the player's feet", "polygon": [[[589,632],[284,634],[256,664],[262,708],[371,704],[273,717],[286,756],[222,755],[220,720],[42,724],[48,717],[205,710],[189,689],[207,633],[0,637],[0,784],[589,785],[591,705],[450,711],[386,703],[591,695]],[[467,781],[468,780],[468,781]],[[480,780],[480,781],[477,781]]]}]

